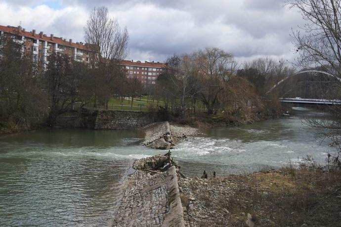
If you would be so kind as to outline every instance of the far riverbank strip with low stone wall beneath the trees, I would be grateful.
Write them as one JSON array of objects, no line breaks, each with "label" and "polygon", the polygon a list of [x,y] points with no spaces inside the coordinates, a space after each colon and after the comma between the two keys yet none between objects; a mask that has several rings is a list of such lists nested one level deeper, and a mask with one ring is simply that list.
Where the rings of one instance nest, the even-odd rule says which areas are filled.
[{"label": "far riverbank strip with low stone wall beneath the trees", "polygon": [[[259,110],[258,110],[259,109]],[[126,130],[141,128],[154,122],[168,120],[174,125],[188,126],[198,129],[213,127],[238,126],[252,124],[261,120],[278,118],[286,105],[279,102],[263,103],[261,108],[251,109],[245,114],[240,113],[216,113],[202,112],[191,117],[173,116],[171,113],[160,111],[122,111],[122,110],[69,110],[56,119],[53,127],[46,124],[47,116],[23,118],[20,122],[0,121],[0,135],[15,134],[37,129],[51,128],[86,128],[95,130]]]}]

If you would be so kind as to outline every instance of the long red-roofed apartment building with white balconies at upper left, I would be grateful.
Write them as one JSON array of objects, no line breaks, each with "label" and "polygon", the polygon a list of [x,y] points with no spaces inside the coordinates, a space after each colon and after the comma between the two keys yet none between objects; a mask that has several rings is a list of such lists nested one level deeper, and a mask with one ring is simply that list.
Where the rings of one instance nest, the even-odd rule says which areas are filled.
[{"label": "long red-roofed apartment building with white balconies at upper left", "polygon": [[24,44],[24,51],[32,53],[34,60],[41,59],[47,64],[47,57],[52,53],[67,53],[76,61],[89,62],[91,50],[89,45],[83,43],[73,43],[72,39],[68,41],[63,37],[49,36],[43,32],[36,33],[36,30],[26,31],[21,26],[2,26],[0,25],[0,35],[7,34],[12,36],[18,42]]}]

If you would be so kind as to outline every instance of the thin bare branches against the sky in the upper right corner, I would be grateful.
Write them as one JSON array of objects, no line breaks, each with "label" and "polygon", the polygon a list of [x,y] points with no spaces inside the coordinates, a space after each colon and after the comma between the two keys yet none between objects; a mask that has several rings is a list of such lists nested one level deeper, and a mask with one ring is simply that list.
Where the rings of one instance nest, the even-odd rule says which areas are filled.
[{"label": "thin bare branches against the sky in the upper right corner", "polygon": [[341,77],[341,0],[289,0],[306,21],[293,32],[299,53],[298,64],[313,68],[322,66]]}]

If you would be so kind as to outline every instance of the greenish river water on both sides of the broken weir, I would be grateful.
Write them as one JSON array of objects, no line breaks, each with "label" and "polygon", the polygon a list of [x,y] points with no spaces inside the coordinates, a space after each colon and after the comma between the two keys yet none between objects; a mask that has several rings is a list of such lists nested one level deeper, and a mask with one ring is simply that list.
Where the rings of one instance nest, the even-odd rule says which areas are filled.
[{"label": "greenish river water on both sides of the broken weir", "polygon": [[[335,149],[302,120],[313,109],[253,125],[215,128],[179,142],[172,155],[189,176],[323,164]],[[134,158],[160,153],[139,145],[135,131],[50,130],[0,137],[1,226],[107,226]],[[162,152],[161,152],[162,153]]]}]

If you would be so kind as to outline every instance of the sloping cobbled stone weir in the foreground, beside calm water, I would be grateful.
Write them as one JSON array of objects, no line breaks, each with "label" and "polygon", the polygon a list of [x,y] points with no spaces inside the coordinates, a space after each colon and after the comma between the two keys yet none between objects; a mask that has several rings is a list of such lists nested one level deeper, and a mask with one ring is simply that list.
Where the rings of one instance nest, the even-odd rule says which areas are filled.
[{"label": "sloping cobbled stone weir in the foreground, beside calm water", "polygon": [[113,227],[183,227],[175,167],[151,176],[136,170],[114,214]]}]

